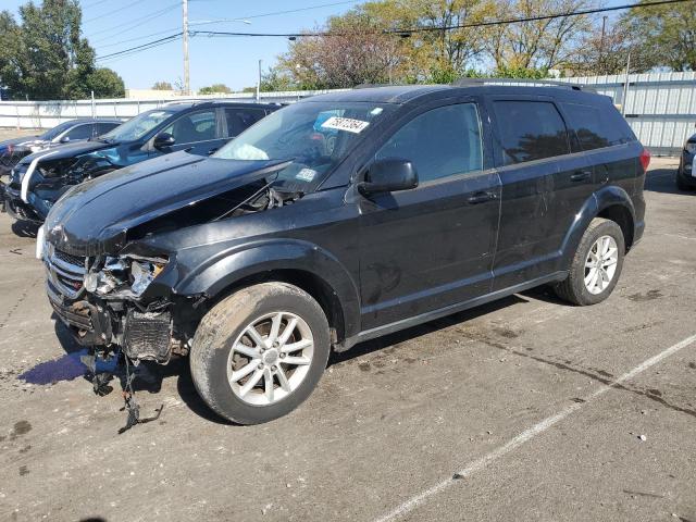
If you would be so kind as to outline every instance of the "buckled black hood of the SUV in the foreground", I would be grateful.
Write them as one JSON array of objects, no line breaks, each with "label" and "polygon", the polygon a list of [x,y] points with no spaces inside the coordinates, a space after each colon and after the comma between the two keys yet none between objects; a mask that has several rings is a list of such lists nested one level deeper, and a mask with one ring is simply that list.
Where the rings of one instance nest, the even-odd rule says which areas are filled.
[{"label": "buckled black hood of the SUV in the foreground", "polygon": [[287,164],[166,154],[69,190],[46,219],[46,237],[75,256],[116,253],[134,226],[262,179]]}]

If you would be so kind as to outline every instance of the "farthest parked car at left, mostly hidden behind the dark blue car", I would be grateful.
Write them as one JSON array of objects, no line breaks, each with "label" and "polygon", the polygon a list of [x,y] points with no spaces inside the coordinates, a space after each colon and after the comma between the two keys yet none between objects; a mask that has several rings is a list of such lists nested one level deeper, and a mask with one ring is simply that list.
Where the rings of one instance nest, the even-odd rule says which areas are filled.
[{"label": "farthest parked car at left, mostly hidden behind the dark blue car", "polygon": [[[4,185],[9,183],[12,169],[22,158],[62,144],[95,138],[122,123],[121,120],[113,117],[71,120],[37,136],[23,136],[0,141],[0,200],[4,200]],[[0,201],[0,203],[2,202]]]}]

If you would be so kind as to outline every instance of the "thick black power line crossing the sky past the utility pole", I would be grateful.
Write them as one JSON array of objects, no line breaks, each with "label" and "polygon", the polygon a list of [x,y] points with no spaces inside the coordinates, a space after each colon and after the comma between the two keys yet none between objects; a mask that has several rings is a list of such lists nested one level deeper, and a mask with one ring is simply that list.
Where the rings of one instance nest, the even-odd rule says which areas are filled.
[{"label": "thick black power line crossing the sky past the utility pole", "polygon": [[[504,20],[493,20],[485,22],[474,22],[471,24],[459,24],[459,25],[447,25],[447,26],[432,26],[432,27],[412,27],[412,28],[401,28],[401,29],[381,29],[373,32],[364,32],[363,34],[391,34],[399,36],[410,36],[412,33],[427,33],[433,30],[453,30],[453,29],[463,29],[463,28],[472,28],[472,27],[485,27],[492,25],[508,25],[508,24],[519,24],[525,22],[537,22],[542,20],[554,20],[554,18],[562,18],[569,16],[582,16],[587,14],[596,14],[596,13],[605,13],[610,11],[621,11],[625,9],[639,9],[639,8],[649,8],[654,5],[666,5],[673,3],[684,3],[684,2],[693,2],[696,0],[658,0],[654,2],[644,2],[644,3],[631,3],[623,5],[614,5],[611,8],[597,8],[597,9],[586,9],[581,11],[572,11],[568,13],[555,13],[555,14],[546,14],[538,16],[524,16],[518,18],[504,18]],[[307,36],[351,36],[351,33],[339,33],[339,32],[311,32],[311,33],[239,33],[239,32],[219,32],[219,30],[190,30],[189,34],[191,36],[232,36],[232,37],[283,37],[283,38],[300,38]],[[117,51],[111,54],[107,54],[104,57],[99,57],[98,60],[102,60],[105,58],[124,54],[130,51],[146,50],[151,44],[166,42],[171,39],[175,39],[182,36],[182,33],[177,33],[174,35],[166,36],[164,38],[160,38],[158,40],[153,40],[151,42],[142,44],[140,46],[132,47],[129,49],[124,49],[122,51]]]}]

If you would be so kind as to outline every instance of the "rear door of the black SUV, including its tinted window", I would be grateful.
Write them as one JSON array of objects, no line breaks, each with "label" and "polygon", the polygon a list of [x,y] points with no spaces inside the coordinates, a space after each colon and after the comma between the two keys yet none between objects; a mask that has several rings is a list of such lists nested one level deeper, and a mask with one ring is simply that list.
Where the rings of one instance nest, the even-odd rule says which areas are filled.
[{"label": "rear door of the black SUV, including its tinted window", "polygon": [[490,99],[502,183],[494,288],[561,270],[560,248],[593,192],[593,171],[572,152],[561,112],[549,97]]}]

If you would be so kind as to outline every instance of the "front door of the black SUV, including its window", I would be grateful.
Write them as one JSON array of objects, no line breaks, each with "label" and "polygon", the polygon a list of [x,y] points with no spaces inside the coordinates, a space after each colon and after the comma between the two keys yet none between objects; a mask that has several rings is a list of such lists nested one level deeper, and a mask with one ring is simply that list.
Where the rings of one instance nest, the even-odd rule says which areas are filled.
[{"label": "front door of the black SUV, including its window", "polygon": [[419,186],[359,197],[364,330],[490,290],[500,187],[480,114],[473,100],[423,109],[376,152],[410,160]]}]

